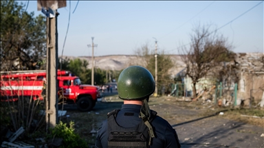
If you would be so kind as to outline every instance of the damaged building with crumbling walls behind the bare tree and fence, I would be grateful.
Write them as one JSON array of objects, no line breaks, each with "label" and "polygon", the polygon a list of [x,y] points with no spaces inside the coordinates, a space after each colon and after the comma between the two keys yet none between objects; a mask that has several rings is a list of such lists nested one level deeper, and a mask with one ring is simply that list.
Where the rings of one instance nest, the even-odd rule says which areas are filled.
[{"label": "damaged building with crumbling walls behind the bare tree and fence", "polygon": [[[177,73],[177,76],[184,77],[184,70]],[[190,77],[185,76],[183,83],[185,94],[191,94],[192,80]],[[211,89],[214,85],[217,86],[218,91]],[[211,69],[208,75],[199,79],[196,88],[198,96],[204,88],[207,88],[211,90],[210,99],[230,98],[232,103],[236,99],[236,105],[241,105],[241,103],[244,106],[250,106],[253,103],[257,105],[264,97],[264,54],[235,53],[234,60],[223,62]],[[204,98],[203,95],[200,97]],[[264,102],[262,107],[263,105]]]}]

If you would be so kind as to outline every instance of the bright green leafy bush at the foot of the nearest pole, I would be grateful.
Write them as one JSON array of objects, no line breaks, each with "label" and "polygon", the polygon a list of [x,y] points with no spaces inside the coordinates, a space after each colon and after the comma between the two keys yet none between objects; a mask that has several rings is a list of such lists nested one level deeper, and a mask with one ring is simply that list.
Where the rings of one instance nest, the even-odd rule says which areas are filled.
[{"label": "bright green leafy bush at the foot of the nearest pole", "polygon": [[88,147],[85,140],[80,138],[78,134],[74,132],[74,122],[69,123],[69,127],[67,127],[66,123],[60,121],[53,129],[50,129],[49,135],[47,135],[47,139],[50,138],[63,138],[64,147]]}]

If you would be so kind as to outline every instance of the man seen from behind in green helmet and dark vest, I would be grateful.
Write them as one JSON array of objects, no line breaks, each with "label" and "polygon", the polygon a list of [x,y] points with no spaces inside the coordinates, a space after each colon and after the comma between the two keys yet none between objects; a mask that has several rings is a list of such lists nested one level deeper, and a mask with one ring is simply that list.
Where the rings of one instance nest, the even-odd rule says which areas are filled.
[{"label": "man seen from behind in green helmet and dark vest", "polygon": [[120,110],[107,114],[96,136],[96,147],[181,147],[176,131],[148,106],[155,90],[151,73],[142,66],[129,66],[118,78]]}]

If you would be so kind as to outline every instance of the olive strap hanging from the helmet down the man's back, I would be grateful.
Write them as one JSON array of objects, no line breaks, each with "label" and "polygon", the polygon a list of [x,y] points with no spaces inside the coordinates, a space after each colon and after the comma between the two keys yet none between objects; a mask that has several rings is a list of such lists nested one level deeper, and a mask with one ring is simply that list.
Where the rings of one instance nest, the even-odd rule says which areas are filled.
[{"label": "olive strap hanging from the helmet down the man's back", "polygon": [[151,145],[152,138],[155,137],[155,134],[153,132],[153,127],[151,123],[149,123],[149,120],[151,119],[151,109],[148,106],[148,98],[143,99],[142,102],[143,102],[143,106],[140,109],[139,117],[144,121],[144,124],[148,127],[148,134],[149,134],[148,145]]}]

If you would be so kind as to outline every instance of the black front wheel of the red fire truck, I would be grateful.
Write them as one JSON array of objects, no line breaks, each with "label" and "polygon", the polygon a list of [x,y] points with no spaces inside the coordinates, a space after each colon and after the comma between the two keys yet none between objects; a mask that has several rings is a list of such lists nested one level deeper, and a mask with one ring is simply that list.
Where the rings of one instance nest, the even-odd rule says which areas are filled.
[{"label": "black front wheel of the red fire truck", "polygon": [[93,108],[91,97],[81,97],[77,101],[77,107],[82,112],[90,111]]}]

